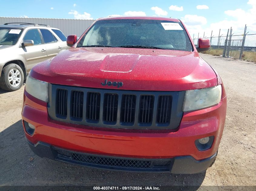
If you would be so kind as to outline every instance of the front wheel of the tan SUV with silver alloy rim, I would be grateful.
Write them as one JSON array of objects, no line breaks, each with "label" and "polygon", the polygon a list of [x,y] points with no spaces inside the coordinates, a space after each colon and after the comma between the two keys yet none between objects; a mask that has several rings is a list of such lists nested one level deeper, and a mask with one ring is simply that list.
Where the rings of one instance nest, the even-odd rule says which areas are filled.
[{"label": "front wheel of the tan SUV with silver alloy rim", "polygon": [[[16,77],[20,78],[20,82],[16,87],[15,87],[15,84],[12,85],[13,81],[9,82],[9,77],[11,77],[11,76],[9,76],[9,74],[12,75],[11,71],[12,71],[12,73],[14,72],[15,75],[16,75],[17,71],[19,72],[18,76],[16,75]],[[6,90],[6,91],[16,91],[22,87],[23,83],[24,83],[24,74],[19,65],[11,63],[11,64],[6,65],[2,69],[2,74],[0,77],[0,88],[2,88],[3,90]]]}]

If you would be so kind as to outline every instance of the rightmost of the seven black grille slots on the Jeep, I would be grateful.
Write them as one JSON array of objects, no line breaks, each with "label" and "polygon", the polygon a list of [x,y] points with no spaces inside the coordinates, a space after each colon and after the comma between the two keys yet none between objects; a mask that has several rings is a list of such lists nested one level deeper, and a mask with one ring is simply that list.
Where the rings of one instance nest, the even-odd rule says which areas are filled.
[{"label": "rightmost of the seven black grille slots on the Jeep", "polygon": [[157,122],[158,123],[170,123],[171,118],[171,96],[159,96],[157,107]]}]

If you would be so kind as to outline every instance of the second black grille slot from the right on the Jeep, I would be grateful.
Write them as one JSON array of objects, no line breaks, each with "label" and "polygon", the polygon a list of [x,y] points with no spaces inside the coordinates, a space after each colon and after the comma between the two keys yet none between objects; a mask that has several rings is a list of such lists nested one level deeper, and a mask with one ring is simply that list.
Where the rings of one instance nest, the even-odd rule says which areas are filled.
[{"label": "second black grille slot from the right on the Jeep", "polygon": [[154,96],[142,95],[140,99],[139,122],[148,125],[152,123],[152,114],[154,108]]}]

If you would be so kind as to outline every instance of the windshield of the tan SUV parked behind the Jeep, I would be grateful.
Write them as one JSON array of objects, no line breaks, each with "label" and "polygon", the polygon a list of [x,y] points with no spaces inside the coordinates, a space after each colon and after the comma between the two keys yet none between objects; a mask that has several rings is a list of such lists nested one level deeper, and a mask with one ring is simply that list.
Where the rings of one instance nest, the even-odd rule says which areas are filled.
[{"label": "windshield of the tan SUV parked behind the Jeep", "polygon": [[0,45],[15,45],[23,29],[0,27]]}]

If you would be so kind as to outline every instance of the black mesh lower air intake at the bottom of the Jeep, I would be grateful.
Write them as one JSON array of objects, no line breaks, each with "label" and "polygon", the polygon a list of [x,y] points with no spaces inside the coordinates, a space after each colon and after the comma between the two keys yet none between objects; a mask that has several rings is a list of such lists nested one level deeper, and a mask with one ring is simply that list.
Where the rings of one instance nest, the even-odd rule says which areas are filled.
[{"label": "black mesh lower air intake at the bottom of the Jeep", "polygon": [[102,156],[89,153],[78,153],[52,147],[57,151],[56,160],[88,167],[96,167],[110,170],[129,170],[143,172],[170,172],[174,162],[171,158],[147,159],[147,158],[122,158]]}]

